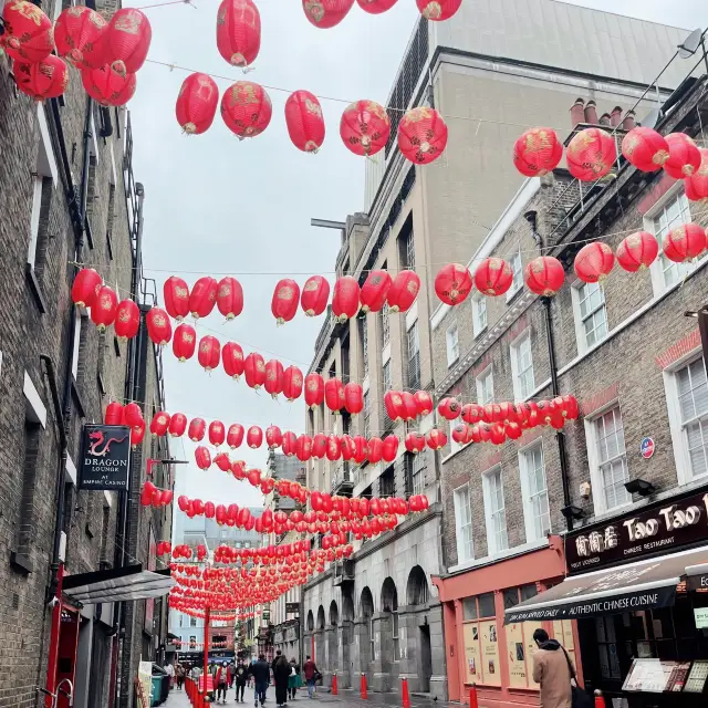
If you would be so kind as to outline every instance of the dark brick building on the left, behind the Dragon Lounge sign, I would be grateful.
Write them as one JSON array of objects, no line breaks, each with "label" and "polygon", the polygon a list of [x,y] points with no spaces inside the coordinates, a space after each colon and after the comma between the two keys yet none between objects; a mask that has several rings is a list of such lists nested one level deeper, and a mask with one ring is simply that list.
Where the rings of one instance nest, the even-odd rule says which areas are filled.
[{"label": "dark brick building on the left, behind the Dragon Lounge sign", "polygon": [[[61,9],[60,2],[45,8],[53,19]],[[84,424],[102,421],[105,405],[127,398],[128,386],[147,419],[150,405],[164,402],[159,361],[144,327],[133,345],[122,343],[112,330],[101,334],[70,296],[75,263],[86,262],[121,299],[142,291],[142,302],[148,300],[140,280],[132,281],[132,272],[140,272],[142,186],[133,179],[125,111],[100,108],[73,70],[65,95],[44,104],[19,93],[10,72],[3,55],[0,706],[37,706],[38,686],[53,690],[70,678],[75,706],[107,706],[118,695],[128,707],[140,653],[157,658],[164,643],[166,603],[126,602],[118,613],[117,604],[81,605],[69,594],[62,603],[52,600],[62,573],[136,562],[147,569],[155,561],[150,533],[168,538],[170,511],[144,512],[138,503],[145,460],[167,457],[163,446],[150,449],[146,441],[133,454],[129,500],[76,488]],[[140,366],[129,366],[138,342]],[[169,475],[162,466],[157,483],[167,487]]]}]

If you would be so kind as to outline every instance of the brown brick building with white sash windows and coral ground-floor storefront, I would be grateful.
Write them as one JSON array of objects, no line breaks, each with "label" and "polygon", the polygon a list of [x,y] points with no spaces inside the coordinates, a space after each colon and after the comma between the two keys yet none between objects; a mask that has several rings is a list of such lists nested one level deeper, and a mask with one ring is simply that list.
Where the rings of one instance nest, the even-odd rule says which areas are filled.
[{"label": "brown brick building with white sash windows and coral ground-floor storefront", "polygon": [[[704,140],[705,85],[706,76],[681,84],[664,103],[657,129]],[[571,111],[576,128],[596,122],[594,106],[583,114],[583,104],[576,101]],[[629,125],[620,119],[613,121],[618,138],[632,117]],[[604,617],[575,623],[568,617],[577,615],[555,610],[543,616],[513,613],[519,604],[538,611],[550,604],[551,593],[563,592],[562,581],[574,569],[559,534],[573,542],[573,533],[583,539],[582,529],[593,532],[596,523],[610,524],[614,533],[652,503],[669,507],[708,481],[706,369],[696,320],[685,316],[708,300],[708,257],[684,266],[659,253],[650,269],[637,273],[615,266],[602,285],[583,283],[572,269],[589,241],[615,250],[642,230],[660,241],[688,221],[708,223],[704,202],[689,202],[681,181],[663,170],[641,173],[623,158],[612,178],[592,187],[581,187],[564,170],[556,170],[550,186],[527,180],[473,252],[470,269],[488,256],[519,259],[523,267],[543,252],[564,263],[563,289],[552,299],[539,298],[523,287],[519,270],[506,295],[475,293],[433,314],[437,399],[455,395],[486,404],[572,394],[581,408],[581,417],[561,433],[541,426],[500,446],[450,440],[440,451],[446,571],[434,582],[444,605],[452,699],[467,700],[475,683],[486,705],[535,705],[532,634],[540,626],[575,655],[586,685],[626,697],[621,688],[632,659],[625,644],[637,639],[626,631],[626,643],[620,637],[634,622],[629,614],[617,615],[615,625]],[[625,488],[631,480],[643,481]],[[642,489],[645,496],[637,493]],[[673,541],[664,543],[669,553]],[[639,559],[645,550],[632,552]],[[602,559],[594,560],[601,568]],[[670,617],[652,617],[659,626],[678,624],[679,607],[677,601]],[[510,616],[532,621],[504,624]],[[667,631],[664,638],[676,650],[678,635]],[[667,658],[660,650],[650,654],[650,646],[644,654],[635,647],[634,656]]]}]

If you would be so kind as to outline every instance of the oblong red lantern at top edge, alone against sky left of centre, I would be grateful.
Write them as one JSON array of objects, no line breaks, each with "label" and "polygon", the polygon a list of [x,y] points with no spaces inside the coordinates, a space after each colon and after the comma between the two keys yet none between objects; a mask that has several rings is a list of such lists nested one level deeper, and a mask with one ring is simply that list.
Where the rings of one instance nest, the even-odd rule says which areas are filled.
[{"label": "oblong red lantern at top edge, alone against sky left of centre", "polygon": [[252,64],[261,48],[261,15],[252,0],[223,0],[217,14],[217,49],[232,66]]}]

